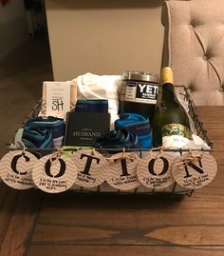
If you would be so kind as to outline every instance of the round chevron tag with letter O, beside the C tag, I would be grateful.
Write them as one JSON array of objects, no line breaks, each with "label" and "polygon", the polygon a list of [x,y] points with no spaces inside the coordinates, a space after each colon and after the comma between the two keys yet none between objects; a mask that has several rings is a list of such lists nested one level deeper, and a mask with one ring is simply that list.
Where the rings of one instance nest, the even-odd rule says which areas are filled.
[{"label": "round chevron tag with letter O, beside the C tag", "polygon": [[77,179],[77,167],[63,155],[50,154],[41,158],[32,170],[32,178],[37,187],[48,193],[64,192]]}]

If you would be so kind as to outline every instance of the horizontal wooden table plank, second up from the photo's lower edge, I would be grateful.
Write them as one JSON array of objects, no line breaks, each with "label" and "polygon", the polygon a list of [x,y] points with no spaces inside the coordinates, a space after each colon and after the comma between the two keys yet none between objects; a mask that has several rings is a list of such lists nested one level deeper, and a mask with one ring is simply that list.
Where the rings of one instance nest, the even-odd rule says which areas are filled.
[{"label": "horizontal wooden table plank, second up from the photo's lower edge", "polygon": [[158,227],[39,226],[33,243],[47,245],[144,245],[144,246],[224,246],[224,226]]}]

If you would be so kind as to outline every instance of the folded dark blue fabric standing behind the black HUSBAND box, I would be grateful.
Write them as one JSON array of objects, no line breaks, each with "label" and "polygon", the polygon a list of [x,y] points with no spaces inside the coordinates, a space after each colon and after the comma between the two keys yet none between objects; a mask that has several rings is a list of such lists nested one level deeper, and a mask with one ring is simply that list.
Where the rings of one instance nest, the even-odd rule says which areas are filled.
[{"label": "folded dark blue fabric standing behind the black HUSBAND box", "polygon": [[108,101],[104,99],[77,100],[76,112],[107,113]]}]

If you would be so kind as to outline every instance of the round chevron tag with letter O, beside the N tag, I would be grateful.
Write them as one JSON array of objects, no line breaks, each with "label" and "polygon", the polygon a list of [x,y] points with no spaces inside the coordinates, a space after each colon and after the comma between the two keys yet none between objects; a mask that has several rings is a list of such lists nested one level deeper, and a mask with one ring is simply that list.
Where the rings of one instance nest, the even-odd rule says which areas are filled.
[{"label": "round chevron tag with letter O, beside the N tag", "polygon": [[164,189],[174,184],[172,166],[176,156],[169,153],[151,152],[140,159],[137,175],[145,187]]}]

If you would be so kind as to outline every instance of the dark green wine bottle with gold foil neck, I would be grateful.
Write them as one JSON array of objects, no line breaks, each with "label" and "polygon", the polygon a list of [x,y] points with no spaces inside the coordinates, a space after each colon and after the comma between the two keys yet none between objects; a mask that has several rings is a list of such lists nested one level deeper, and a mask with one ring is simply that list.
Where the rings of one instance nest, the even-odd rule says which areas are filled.
[{"label": "dark green wine bottle with gold foil neck", "polygon": [[161,69],[161,99],[153,118],[153,147],[182,148],[191,136],[189,117],[177,100],[171,68]]}]

